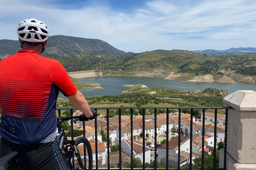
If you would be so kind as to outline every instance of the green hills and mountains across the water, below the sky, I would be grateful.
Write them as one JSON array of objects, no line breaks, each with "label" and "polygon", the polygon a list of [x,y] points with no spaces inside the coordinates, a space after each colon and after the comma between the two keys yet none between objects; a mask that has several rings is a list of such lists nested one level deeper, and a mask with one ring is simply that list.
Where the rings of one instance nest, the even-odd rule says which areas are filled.
[{"label": "green hills and mountains across the water, below the sky", "polygon": [[[256,83],[256,48],[125,53],[99,39],[60,35],[49,37],[45,48],[42,55],[58,60],[68,72],[102,70],[103,75]],[[0,60],[19,49],[18,40],[0,40]]]}]

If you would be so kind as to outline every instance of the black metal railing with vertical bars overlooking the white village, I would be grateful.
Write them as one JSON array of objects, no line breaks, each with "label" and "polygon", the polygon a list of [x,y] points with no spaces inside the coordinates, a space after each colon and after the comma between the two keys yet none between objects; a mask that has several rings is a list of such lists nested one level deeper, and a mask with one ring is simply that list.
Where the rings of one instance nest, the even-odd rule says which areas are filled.
[{"label": "black metal railing with vertical bars overlooking the white village", "polygon": [[[118,120],[119,120],[119,123],[118,123],[118,137],[120,138],[122,136],[122,126],[121,126],[121,111],[122,109],[130,109],[130,117],[131,117],[131,123],[130,123],[130,126],[131,126],[131,168],[130,169],[133,169],[133,109],[141,109],[142,110],[142,139],[143,141],[145,141],[145,111],[146,109],[154,109],[154,129],[155,129],[155,135],[154,135],[154,141],[155,141],[155,152],[154,152],[154,168],[149,168],[149,169],[181,169],[181,165],[180,165],[180,158],[181,158],[181,109],[190,109],[190,134],[193,134],[193,111],[194,109],[202,109],[202,114],[203,114],[203,117],[201,117],[201,121],[202,121],[202,166],[201,168],[199,169],[206,169],[204,168],[204,147],[205,147],[205,143],[204,143],[204,140],[205,140],[205,110],[206,109],[214,109],[215,110],[215,116],[214,116],[214,149],[213,149],[213,168],[210,168],[210,169],[227,169],[226,168],[226,159],[227,159],[227,122],[228,122],[228,109],[231,108],[231,107],[91,107],[91,109],[94,109],[94,110],[105,110],[106,111],[106,119],[107,119],[107,168],[100,168],[100,169],[111,169],[110,168],[110,160],[109,160],[109,153],[110,153],[110,150],[109,150],[109,147],[110,147],[110,141],[109,141],[109,110],[111,109],[118,109]],[[76,108],[57,108],[58,110],[58,113],[59,113],[59,116],[60,116],[60,113],[61,113],[61,110],[70,110],[70,115],[73,114],[73,111],[75,110]],[[165,109],[166,110],[166,168],[157,168],[157,151],[156,151],[156,146],[157,146],[157,109]],[[179,114],[179,123],[178,123],[178,167],[177,168],[169,168],[169,129],[167,127],[169,127],[169,111],[170,109],[177,109],[178,110],[178,114]],[[217,152],[217,112],[218,112],[218,109],[225,109],[225,114],[226,114],[226,123],[225,123],[225,139],[224,139],[224,168],[216,168],[216,152]],[[85,136],[85,123],[83,122],[83,130],[84,130],[84,136]],[[95,120],[95,141],[98,141],[98,137],[97,137],[97,130],[98,130],[98,125],[97,125],[97,118]],[[73,137],[73,120],[71,120],[71,135],[72,135],[72,140],[74,139]],[[190,165],[190,168],[189,169],[193,169],[193,135],[190,135],[190,152],[189,152],[189,165]],[[95,143],[95,162],[96,162],[96,165],[95,165],[95,169],[99,169],[99,164],[98,164],[98,145],[97,143]],[[122,142],[121,140],[119,140],[118,142],[118,145],[119,145],[119,169],[121,170],[123,167],[122,167]],[[142,156],[142,165],[143,167],[142,168],[139,168],[139,169],[146,169],[145,167],[145,164],[146,164],[146,161],[145,161],[145,142],[143,142],[143,156]],[[125,168],[127,169],[127,168]],[[137,168],[138,169],[138,168]],[[147,168],[148,169],[148,168]],[[209,168],[208,168],[209,169]]]}]

